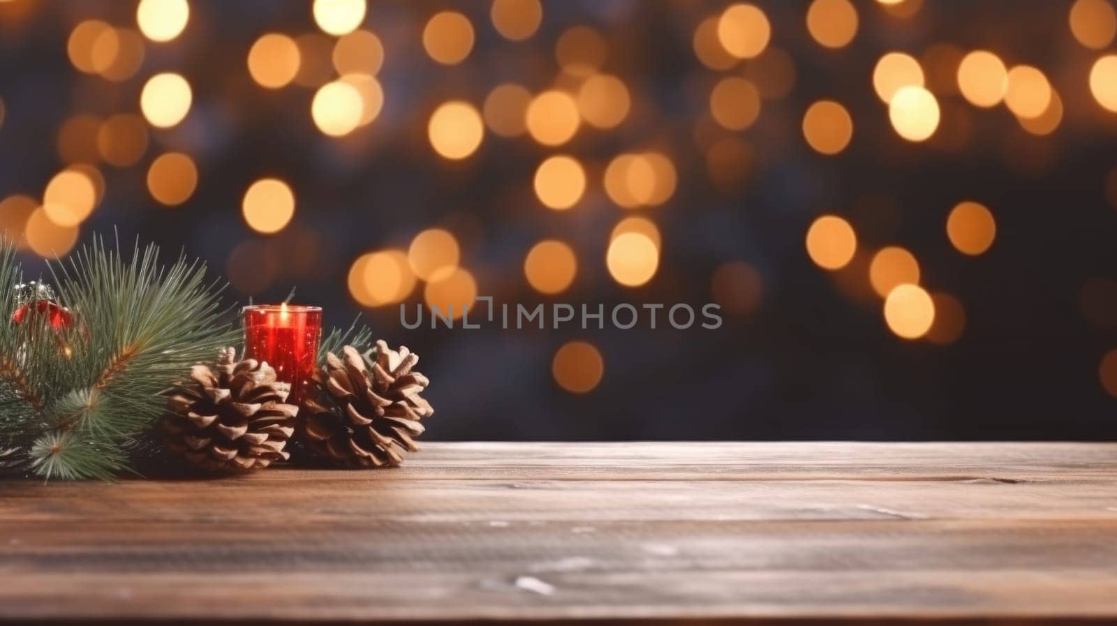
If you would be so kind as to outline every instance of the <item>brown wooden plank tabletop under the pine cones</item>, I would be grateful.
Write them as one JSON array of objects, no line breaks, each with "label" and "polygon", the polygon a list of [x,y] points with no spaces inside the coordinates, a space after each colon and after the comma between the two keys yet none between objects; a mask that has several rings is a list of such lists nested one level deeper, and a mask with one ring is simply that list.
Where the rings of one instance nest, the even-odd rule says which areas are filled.
[{"label": "brown wooden plank tabletop under the pine cones", "polygon": [[0,482],[0,617],[1117,619],[1117,444],[427,444]]}]

